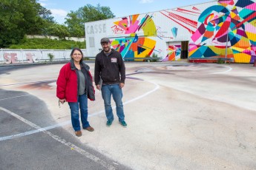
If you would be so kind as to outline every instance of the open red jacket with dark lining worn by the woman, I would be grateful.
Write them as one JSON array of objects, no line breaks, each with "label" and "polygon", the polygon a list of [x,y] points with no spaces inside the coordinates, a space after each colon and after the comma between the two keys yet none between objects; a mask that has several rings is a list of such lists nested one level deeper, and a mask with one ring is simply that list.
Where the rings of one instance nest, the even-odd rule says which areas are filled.
[{"label": "open red jacket with dark lining worn by the woman", "polygon": [[[86,93],[91,101],[95,101],[95,91],[92,84],[91,72],[89,72],[89,66],[82,62],[81,69],[85,69],[85,76],[88,75]],[[59,77],[57,80],[57,91],[56,96],[59,99],[66,99],[68,102],[77,102],[78,98],[78,77],[76,75],[76,68],[73,62],[65,64],[59,71]],[[86,79],[86,78],[85,78]]]}]

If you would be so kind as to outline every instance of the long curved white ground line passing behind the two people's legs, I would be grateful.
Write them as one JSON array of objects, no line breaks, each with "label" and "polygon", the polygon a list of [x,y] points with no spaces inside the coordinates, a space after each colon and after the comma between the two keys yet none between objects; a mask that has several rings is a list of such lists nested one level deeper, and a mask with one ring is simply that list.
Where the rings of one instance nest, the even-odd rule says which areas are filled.
[{"label": "long curved white ground line passing behind the two people's legs", "polygon": [[[140,98],[144,98],[146,95],[149,95],[149,94],[151,94],[152,92],[155,92],[157,89],[159,89],[159,85],[158,85],[158,84],[155,84],[154,82],[151,82],[151,81],[147,81],[147,82],[149,82],[149,83],[151,83],[151,84],[154,84],[154,85],[155,85],[155,88],[152,89],[152,90],[149,91],[149,92],[146,92],[146,93],[143,94],[143,95],[138,96],[137,98],[131,99],[130,101],[125,101],[125,102],[123,103],[123,105],[128,104],[128,103],[131,103],[131,102],[134,102],[134,101],[137,101],[137,100],[139,100]],[[112,108],[115,109],[116,106],[113,106]],[[88,115],[88,117],[93,117],[93,116],[96,116],[96,115],[100,115],[100,114],[102,114],[102,113],[105,113],[105,110],[102,110],[102,111],[93,113],[93,114],[91,114],[91,115]],[[41,128],[41,129],[36,129],[36,130],[32,130],[32,131],[27,131],[27,132],[19,133],[19,134],[16,134],[16,135],[10,135],[10,136],[5,136],[5,137],[0,137],[0,141],[2,141],[2,140],[10,140],[10,139],[14,139],[14,138],[17,138],[17,137],[23,137],[23,136],[26,136],[26,135],[32,135],[32,134],[34,134],[34,133],[42,132],[43,129],[49,130],[49,129],[54,129],[54,128],[57,128],[57,127],[60,127],[60,126],[65,126],[65,125],[68,125],[68,124],[70,124],[70,120],[65,121],[65,122],[62,122],[62,123],[58,123],[58,124],[53,125],[53,126],[47,126],[47,127],[45,127],[45,128]]]}]

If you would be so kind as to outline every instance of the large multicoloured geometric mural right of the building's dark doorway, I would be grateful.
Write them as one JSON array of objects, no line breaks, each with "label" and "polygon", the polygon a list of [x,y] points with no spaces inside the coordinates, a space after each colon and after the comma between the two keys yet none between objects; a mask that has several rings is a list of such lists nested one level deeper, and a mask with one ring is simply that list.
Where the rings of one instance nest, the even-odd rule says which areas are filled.
[{"label": "large multicoloured geometric mural right of the building's dark doorway", "polygon": [[256,57],[255,10],[256,3],[250,0],[219,0],[208,7],[191,35],[190,58],[227,57],[252,63]]}]

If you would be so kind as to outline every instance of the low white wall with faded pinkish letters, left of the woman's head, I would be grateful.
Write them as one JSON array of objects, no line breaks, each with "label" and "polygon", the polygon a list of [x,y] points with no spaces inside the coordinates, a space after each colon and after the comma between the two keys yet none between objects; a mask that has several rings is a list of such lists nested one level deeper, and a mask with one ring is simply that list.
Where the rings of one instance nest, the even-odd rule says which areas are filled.
[{"label": "low white wall with faded pinkish letters, left of the woman's head", "polygon": [[[53,61],[70,60],[71,50],[0,50],[0,64],[23,64],[50,61],[48,54],[53,55]],[[82,49],[87,56],[86,49]]]}]

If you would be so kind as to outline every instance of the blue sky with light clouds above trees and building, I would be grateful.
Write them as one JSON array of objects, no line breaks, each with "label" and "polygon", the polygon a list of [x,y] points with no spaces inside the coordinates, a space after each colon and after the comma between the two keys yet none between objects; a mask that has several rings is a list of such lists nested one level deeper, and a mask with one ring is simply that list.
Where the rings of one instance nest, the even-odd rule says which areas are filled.
[{"label": "blue sky with light clouds above trees and building", "polygon": [[110,7],[114,16],[123,17],[139,13],[151,13],[159,10],[168,10],[175,7],[184,7],[190,4],[201,4],[214,0],[38,0],[59,24],[64,24],[65,17],[71,10],[76,11],[86,4]]}]

